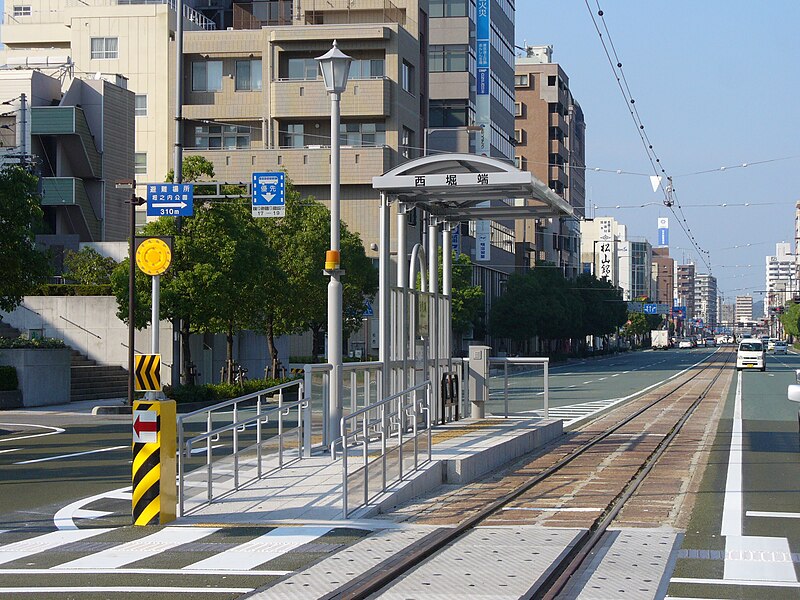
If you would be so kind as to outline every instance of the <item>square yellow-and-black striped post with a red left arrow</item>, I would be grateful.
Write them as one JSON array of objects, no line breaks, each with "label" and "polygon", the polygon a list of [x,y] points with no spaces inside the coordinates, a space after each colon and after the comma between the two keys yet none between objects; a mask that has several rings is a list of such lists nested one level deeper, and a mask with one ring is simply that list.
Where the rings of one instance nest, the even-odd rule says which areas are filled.
[{"label": "square yellow-and-black striped post with a red left arrow", "polygon": [[175,401],[133,403],[133,524],[175,520]]}]

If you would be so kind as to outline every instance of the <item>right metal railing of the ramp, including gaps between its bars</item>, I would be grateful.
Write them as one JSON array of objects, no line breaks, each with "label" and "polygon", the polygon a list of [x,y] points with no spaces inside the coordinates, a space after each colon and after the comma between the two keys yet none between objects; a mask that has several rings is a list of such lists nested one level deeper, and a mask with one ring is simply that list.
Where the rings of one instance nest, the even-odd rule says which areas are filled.
[{"label": "right metal railing of the ramp, including gaps between its bars", "polygon": [[425,381],[342,417],[344,518],[431,460],[430,401]]}]

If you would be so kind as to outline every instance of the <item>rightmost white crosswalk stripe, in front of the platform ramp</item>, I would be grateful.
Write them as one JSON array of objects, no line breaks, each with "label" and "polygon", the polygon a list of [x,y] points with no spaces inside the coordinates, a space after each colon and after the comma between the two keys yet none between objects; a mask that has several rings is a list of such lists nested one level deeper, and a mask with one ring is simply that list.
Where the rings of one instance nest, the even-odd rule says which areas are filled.
[{"label": "rightmost white crosswalk stripe, in front of the platform ramp", "polygon": [[331,529],[332,527],[279,527],[235,548],[187,565],[183,569],[186,571],[206,571],[208,569],[249,571],[304,544],[313,542]]}]

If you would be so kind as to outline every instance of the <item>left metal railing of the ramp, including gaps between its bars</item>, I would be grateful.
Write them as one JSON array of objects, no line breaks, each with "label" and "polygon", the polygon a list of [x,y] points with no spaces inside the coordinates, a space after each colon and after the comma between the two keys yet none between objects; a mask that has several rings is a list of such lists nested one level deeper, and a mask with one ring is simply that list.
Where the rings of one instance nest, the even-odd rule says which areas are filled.
[{"label": "left metal railing of the ramp, including gaps between its bars", "polygon": [[310,455],[310,421],[302,380],[179,415],[179,515]]}]

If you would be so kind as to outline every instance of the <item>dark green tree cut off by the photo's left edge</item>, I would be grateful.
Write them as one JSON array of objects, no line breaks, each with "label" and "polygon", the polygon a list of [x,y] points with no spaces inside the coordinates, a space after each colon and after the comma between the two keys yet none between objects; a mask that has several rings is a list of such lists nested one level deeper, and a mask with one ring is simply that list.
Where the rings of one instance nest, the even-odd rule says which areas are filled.
[{"label": "dark green tree cut off by the photo's left edge", "polygon": [[50,274],[48,257],[35,246],[43,212],[37,178],[18,165],[0,169],[0,309],[12,311]]}]

